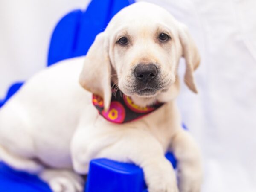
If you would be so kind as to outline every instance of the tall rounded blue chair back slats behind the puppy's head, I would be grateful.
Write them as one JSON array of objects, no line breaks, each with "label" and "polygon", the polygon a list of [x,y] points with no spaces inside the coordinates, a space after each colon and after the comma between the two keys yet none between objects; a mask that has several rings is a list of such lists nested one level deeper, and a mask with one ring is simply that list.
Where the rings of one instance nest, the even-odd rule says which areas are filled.
[{"label": "tall rounded blue chair back slats behind the puppy's head", "polygon": [[67,58],[86,55],[96,35],[111,18],[134,0],[92,0],[86,11],[75,10],[55,27],[50,41],[48,66]]}]

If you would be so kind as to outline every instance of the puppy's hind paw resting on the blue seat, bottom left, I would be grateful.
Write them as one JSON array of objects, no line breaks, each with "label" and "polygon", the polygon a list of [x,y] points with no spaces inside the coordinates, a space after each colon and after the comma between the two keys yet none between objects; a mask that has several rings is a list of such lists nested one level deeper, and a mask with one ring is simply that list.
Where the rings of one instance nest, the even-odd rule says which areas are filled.
[{"label": "puppy's hind paw resting on the blue seat, bottom left", "polygon": [[83,192],[84,180],[71,171],[44,170],[39,177],[49,184],[53,192]]}]

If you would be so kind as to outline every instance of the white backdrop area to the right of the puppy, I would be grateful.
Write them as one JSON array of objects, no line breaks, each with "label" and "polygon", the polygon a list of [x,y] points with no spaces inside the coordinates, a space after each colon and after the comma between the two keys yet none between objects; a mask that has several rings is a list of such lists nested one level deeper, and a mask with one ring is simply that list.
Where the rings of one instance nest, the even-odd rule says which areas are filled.
[{"label": "white backdrop area to the right of the puppy", "polygon": [[151,0],[189,27],[201,52],[199,96],[183,121],[204,154],[204,192],[256,191],[256,1]]}]

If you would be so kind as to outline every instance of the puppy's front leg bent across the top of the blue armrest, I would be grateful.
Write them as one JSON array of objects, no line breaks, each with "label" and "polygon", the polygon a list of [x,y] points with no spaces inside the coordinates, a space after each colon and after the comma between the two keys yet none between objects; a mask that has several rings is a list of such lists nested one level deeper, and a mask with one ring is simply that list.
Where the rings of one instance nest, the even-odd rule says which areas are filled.
[{"label": "puppy's front leg bent across the top of the blue armrest", "polygon": [[90,135],[86,130],[77,130],[72,141],[76,172],[87,173],[90,160],[105,157],[140,166],[149,192],[178,192],[171,163],[164,157],[160,143],[147,131],[106,125],[104,128],[93,127]]}]

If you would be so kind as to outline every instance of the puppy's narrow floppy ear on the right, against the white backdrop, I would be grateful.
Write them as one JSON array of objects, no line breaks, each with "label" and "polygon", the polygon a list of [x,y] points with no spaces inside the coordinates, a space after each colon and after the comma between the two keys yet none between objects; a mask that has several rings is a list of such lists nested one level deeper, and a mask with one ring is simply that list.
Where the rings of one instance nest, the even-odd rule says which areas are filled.
[{"label": "puppy's narrow floppy ear on the right, against the white backdrop", "polygon": [[184,81],[194,93],[198,93],[195,85],[194,70],[199,66],[200,55],[195,41],[192,39],[186,26],[180,23],[179,38],[182,46],[182,56],[186,60],[186,72]]}]

